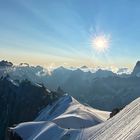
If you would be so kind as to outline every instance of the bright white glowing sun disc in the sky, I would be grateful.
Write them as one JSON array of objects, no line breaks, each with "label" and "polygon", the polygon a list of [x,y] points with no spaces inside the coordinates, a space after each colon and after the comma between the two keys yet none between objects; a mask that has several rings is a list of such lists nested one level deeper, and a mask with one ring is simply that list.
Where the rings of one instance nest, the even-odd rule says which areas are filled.
[{"label": "bright white glowing sun disc in the sky", "polygon": [[109,37],[106,35],[99,35],[92,38],[92,47],[98,52],[105,52],[109,48]]}]

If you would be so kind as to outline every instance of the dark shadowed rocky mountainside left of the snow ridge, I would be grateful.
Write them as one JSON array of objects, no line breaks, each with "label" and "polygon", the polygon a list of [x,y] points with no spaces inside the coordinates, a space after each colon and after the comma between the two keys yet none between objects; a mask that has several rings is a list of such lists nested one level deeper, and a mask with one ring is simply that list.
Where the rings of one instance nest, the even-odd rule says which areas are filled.
[{"label": "dark shadowed rocky mountainside left of the snow ridge", "polygon": [[18,86],[8,78],[0,79],[0,139],[4,140],[6,128],[13,124],[32,121],[39,111],[52,104],[61,95],[49,92],[44,86],[25,80]]}]

